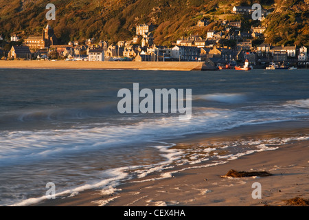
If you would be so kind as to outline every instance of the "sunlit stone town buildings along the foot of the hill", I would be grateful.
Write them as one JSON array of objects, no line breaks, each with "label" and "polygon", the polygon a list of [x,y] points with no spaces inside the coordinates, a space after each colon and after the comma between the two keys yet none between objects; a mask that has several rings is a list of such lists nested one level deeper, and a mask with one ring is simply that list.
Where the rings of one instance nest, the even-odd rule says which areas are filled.
[{"label": "sunlit stone town buildings along the foot of the hill", "polygon": [[[232,13],[251,13],[251,7],[233,7]],[[266,17],[267,11],[262,11]],[[152,23],[136,26],[136,36],[126,41],[108,43],[106,40],[90,38],[86,41],[69,41],[58,44],[54,29],[47,24],[41,36],[27,36],[24,39],[13,34],[10,39],[0,41],[11,43],[10,50],[0,48],[1,60],[43,60],[43,61],[135,61],[203,62],[213,69],[230,69],[247,63],[251,68],[267,67],[307,68],[308,48],[304,45],[253,45],[261,39],[267,26],[242,28],[242,21],[217,21],[222,30],[208,30],[207,34],[183,36],[169,47],[156,45]],[[196,28],[209,25],[206,18],[196,23]],[[0,33],[1,34],[1,33]],[[5,45],[5,43],[4,43]],[[6,47],[8,49],[8,47]]]}]

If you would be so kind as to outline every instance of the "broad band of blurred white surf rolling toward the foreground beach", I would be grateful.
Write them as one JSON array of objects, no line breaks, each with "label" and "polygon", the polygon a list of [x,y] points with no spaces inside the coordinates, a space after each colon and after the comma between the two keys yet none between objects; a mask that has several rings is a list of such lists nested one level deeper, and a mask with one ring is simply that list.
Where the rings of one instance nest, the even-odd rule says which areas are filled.
[{"label": "broad band of blurred white surf rolling toward the foreground beach", "polygon": [[[304,111],[290,111],[289,109],[285,111],[284,108],[280,111],[275,110],[252,111],[241,109],[240,111],[238,109],[200,107],[196,108],[196,111],[192,111],[191,120],[185,122],[180,121],[176,115],[170,117],[162,115],[157,118],[135,120],[134,123],[129,122],[129,118],[124,117],[119,118],[119,120],[125,122],[123,124],[106,125],[104,121],[95,124],[91,122],[91,126],[76,124],[71,129],[0,131],[0,166],[5,166],[7,163],[18,164],[32,159],[43,159],[52,155],[62,157],[70,153],[159,141],[192,133],[215,133],[243,125],[283,122],[308,115],[308,112]],[[30,115],[34,118],[45,118],[50,115],[49,113],[50,111],[46,111],[43,115],[41,113]],[[91,111],[88,111],[87,116],[89,116],[89,113]],[[25,118],[30,117],[30,115],[24,115],[23,120],[26,120]],[[63,117],[67,113],[61,112],[60,115]],[[96,113],[92,115],[96,115]],[[80,115],[80,117],[82,116],[85,115]]]}]

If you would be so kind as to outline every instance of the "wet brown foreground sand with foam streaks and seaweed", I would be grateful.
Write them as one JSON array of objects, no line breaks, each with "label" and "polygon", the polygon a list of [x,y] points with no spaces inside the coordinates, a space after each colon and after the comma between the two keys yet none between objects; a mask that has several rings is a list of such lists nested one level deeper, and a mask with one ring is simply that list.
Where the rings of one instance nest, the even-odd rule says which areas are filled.
[{"label": "wet brown foreground sand with foam streaks and seaweed", "polygon": [[[174,148],[211,141],[298,137],[306,128],[235,129],[218,137],[199,135],[181,140]],[[276,150],[255,152],[225,164],[194,164],[132,179],[109,191],[87,190],[74,197],[56,198],[36,206],[287,206],[285,199],[309,198],[309,141],[280,144]],[[229,170],[267,171],[268,177],[222,178]],[[162,177],[166,178],[162,178]],[[261,199],[253,199],[253,183],[261,184]]]}]

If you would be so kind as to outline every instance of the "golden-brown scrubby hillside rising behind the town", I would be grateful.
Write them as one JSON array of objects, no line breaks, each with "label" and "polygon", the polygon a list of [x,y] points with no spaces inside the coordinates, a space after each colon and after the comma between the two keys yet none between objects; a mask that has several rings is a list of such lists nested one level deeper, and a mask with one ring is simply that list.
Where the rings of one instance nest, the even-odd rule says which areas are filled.
[{"label": "golden-brown scrubby hillside rising behind the town", "polygon": [[[266,41],[273,45],[309,45],[309,0],[0,0],[0,34],[41,34],[47,24],[45,6],[56,5],[56,21],[48,21],[60,43],[95,38],[110,43],[131,39],[139,23],[155,25],[155,43],[170,45],[180,36],[220,30],[218,19],[239,20],[245,28],[259,25],[250,17],[230,14],[234,5],[261,3],[273,12],[267,24]],[[196,28],[207,17],[211,24]]]}]

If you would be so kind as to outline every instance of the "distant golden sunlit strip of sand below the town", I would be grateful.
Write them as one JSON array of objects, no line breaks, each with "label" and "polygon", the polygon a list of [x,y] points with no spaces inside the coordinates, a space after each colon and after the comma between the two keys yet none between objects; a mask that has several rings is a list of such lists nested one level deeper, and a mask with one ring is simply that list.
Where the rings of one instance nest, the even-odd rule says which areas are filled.
[{"label": "distant golden sunlit strip of sand below the town", "polygon": [[0,61],[0,68],[12,69],[139,69],[202,70],[199,62],[88,62],[88,61]]}]

